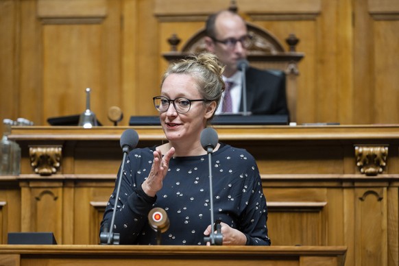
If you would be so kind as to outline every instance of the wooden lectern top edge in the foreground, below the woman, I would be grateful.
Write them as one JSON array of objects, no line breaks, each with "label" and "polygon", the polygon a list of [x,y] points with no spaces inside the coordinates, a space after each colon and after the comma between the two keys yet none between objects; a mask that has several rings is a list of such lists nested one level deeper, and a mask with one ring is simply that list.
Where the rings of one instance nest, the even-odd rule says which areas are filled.
[{"label": "wooden lectern top edge in the foreground, below the woman", "polygon": [[344,265],[341,246],[0,245],[0,265]]}]

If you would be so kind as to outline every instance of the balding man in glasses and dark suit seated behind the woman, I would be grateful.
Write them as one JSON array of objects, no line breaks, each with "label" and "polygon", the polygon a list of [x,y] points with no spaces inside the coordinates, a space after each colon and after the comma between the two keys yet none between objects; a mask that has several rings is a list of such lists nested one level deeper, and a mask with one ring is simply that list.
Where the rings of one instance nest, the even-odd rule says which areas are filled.
[{"label": "balding man in glasses and dark suit seated behind the woman", "polygon": [[[247,25],[239,14],[222,10],[206,21],[206,49],[226,65],[223,80],[226,90],[216,114],[243,112],[239,60],[247,58],[251,45]],[[285,75],[276,75],[249,67],[245,72],[247,111],[252,114],[289,114],[285,93]]]}]

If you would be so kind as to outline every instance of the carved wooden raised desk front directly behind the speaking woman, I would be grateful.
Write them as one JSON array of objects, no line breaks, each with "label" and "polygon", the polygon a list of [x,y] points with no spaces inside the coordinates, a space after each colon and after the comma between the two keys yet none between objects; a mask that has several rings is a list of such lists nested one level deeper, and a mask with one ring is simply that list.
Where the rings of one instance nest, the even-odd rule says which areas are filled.
[{"label": "carved wooden raised desk front directly behind the speaking woman", "polygon": [[[121,164],[119,138],[126,129],[13,128],[10,138],[22,150],[21,175],[0,176],[0,243],[8,243],[8,232],[53,232],[60,245],[37,252],[62,254],[62,249],[80,248],[83,254],[104,251],[108,256],[106,247],[95,245]],[[158,126],[134,129],[140,137],[138,147],[165,142]],[[325,252],[346,246],[346,266],[399,265],[399,125],[218,125],[215,129],[220,141],[247,149],[261,171],[273,246],[255,248],[251,252],[259,254],[246,254],[245,259],[284,254],[299,261],[304,250]],[[7,248],[10,252],[16,246]],[[33,252],[18,248],[13,254]],[[218,252],[226,252],[225,248]],[[233,248],[226,259],[244,256],[243,248]],[[167,252],[193,258],[193,250],[185,250],[190,254],[185,255],[184,247],[161,250],[158,258]],[[118,252],[126,256],[123,250]],[[212,254],[206,256],[213,258]]]}]

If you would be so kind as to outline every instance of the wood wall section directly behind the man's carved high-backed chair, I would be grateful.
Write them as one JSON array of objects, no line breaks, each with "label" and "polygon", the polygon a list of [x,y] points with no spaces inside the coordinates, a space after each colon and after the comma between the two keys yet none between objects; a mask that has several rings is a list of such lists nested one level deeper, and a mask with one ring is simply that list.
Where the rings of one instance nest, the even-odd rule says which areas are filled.
[{"label": "wood wall section directly behind the man's carved high-backed chair", "polygon": [[[304,51],[306,58],[308,57],[308,52],[310,55],[314,53],[315,41],[313,35],[315,34],[315,19],[321,11],[320,1],[297,1],[295,9],[292,8],[293,1],[287,0],[278,3],[276,1],[237,1],[237,3],[240,14],[247,21],[267,29],[280,40],[286,50],[289,47],[285,43],[285,38],[294,33],[300,38],[300,45],[298,45],[297,51],[302,52],[304,51],[302,47],[307,47]],[[156,1],[155,14],[160,21],[161,38],[159,41],[162,52],[170,50],[166,40],[171,34],[178,34],[181,39],[178,46],[179,49],[195,32],[204,28],[208,14],[226,8],[226,3],[223,3],[223,1],[203,1],[202,5],[204,7],[199,10],[198,7],[194,7],[195,5],[183,5],[179,0],[167,1],[167,4],[166,1]],[[213,10],[208,11],[209,9]],[[314,63],[311,63],[311,60],[311,58],[301,60],[300,69],[313,69],[315,66]],[[166,66],[166,62],[160,63],[160,73]],[[314,84],[315,75],[312,75],[310,71],[304,71],[304,73],[301,71],[300,79],[298,80],[298,91],[300,92],[298,98],[315,102]],[[301,113],[300,117],[304,115],[304,117],[309,118],[307,121],[315,121],[312,117],[315,114],[314,110],[312,110],[313,106],[314,104],[298,106],[298,112]],[[299,122],[301,123],[302,121]]]}]

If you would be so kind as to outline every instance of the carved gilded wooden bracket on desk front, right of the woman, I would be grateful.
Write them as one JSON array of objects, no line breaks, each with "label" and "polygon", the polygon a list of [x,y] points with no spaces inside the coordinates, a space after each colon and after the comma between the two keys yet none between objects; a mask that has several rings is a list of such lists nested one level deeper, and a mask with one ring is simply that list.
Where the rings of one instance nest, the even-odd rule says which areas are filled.
[{"label": "carved gilded wooden bracket on desk front, right of the woman", "polygon": [[387,166],[388,147],[355,146],[356,166],[366,176],[377,176]]}]

